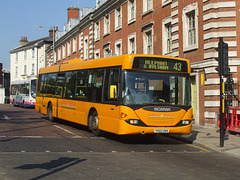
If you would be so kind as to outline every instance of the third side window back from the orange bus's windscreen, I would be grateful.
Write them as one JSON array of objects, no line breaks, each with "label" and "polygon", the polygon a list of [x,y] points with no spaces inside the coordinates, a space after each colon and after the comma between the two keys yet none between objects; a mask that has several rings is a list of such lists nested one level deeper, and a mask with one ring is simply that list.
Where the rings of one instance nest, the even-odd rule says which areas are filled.
[{"label": "third side window back from the orange bus's windscreen", "polygon": [[77,72],[77,90],[76,98],[79,100],[86,100],[87,95],[87,83],[88,83],[88,71]]}]

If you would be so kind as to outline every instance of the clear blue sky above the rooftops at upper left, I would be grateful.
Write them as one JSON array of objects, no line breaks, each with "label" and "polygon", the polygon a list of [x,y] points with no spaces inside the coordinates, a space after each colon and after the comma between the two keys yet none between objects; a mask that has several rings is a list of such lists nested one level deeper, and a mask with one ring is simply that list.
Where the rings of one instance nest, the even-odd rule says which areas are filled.
[{"label": "clear blue sky above the rooftops at upper left", "polygon": [[48,36],[48,30],[37,28],[58,26],[63,30],[67,22],[67,8],[71,5],[95,7],[96,0],[0,0],[0,63],[10,70],[9,51],[18,47],[22,36],[28,41]]}]

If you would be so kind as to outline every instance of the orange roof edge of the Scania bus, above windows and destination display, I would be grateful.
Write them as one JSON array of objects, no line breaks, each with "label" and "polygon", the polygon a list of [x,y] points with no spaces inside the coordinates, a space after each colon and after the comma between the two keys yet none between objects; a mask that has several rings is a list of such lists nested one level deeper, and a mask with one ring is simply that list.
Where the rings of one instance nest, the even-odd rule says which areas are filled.
[{"label": "orange roof edge of the Scania bus, above windows and destination display", "polygon": [[100,67],[114,67],[114,66],[122,66],[122,69],[132,69],[133,59],[135,57],[147,57],[147,58],[157,57],[157,58],[186,61],[188,64],[188,73],[191,72],[190,61],[187,59],[168,57],[168,56],[159,56],[159,55],[147,55],[147,54],[126,54],[121,56],[112,56],[112,57],[86,60],[86,61],[81,59],[73,59],[63,64],[41,68],[39,70],[39,74],[74,71],[79,69],[92,69],[92,68],[100,68]]}]

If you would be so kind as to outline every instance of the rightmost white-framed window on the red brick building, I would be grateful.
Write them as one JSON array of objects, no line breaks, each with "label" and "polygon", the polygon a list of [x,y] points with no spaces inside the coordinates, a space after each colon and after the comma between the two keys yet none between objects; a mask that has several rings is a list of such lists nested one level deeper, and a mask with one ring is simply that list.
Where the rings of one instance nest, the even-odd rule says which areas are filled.
[{"label": "rightmost white-framed window on the red brick building", "polygon": [[193,3],[183,9],[183,50],[198,48],[198,4]]}]

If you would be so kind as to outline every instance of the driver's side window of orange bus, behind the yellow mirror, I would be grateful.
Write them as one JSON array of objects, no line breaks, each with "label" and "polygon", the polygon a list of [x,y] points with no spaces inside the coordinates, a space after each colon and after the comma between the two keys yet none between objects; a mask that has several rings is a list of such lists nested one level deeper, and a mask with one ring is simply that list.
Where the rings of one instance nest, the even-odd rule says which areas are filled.
[{"label": "driver's side window of orange bus, behind the yellow mirror", "polygon": [[[119,72],[120,69],[106,69],[104,101],[114,101],[118,97]],[[111,89],[114,89],[114,95],[112,95]]]}]

